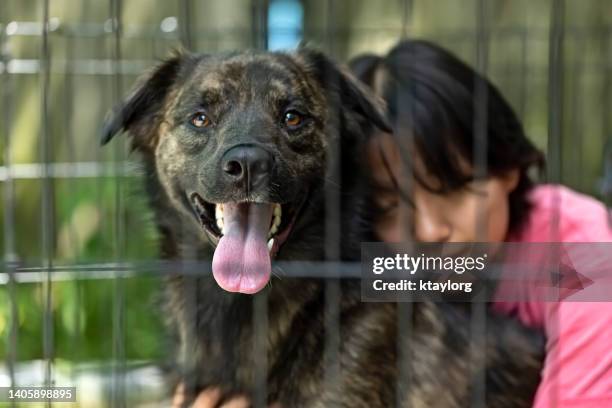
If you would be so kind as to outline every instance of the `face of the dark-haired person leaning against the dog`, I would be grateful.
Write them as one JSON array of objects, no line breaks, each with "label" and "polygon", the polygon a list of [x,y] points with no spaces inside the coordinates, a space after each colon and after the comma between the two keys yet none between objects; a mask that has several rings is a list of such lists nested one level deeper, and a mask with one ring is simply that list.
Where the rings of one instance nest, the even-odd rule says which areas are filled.
[{"label": "face of the dark-haired person leaning against the dog", "polygon": [[[488,177],[447,194],[436,194],[411,182],[402,170],[399,149],[388,134],[371,140],[368,161],[372,169],[375,202],[379,207],[375,232],[386,242],[502,242],[509,227],[508,195],[518,183],[518,171]],[[418,158],[413,158],[419,167]],[[469,165],[466,163],[466,166]],[[425,172],[420,171],[421,174]],[[428,180],[434,185],[435,179]],[[397,186],[409,191],[411,205]]]}]

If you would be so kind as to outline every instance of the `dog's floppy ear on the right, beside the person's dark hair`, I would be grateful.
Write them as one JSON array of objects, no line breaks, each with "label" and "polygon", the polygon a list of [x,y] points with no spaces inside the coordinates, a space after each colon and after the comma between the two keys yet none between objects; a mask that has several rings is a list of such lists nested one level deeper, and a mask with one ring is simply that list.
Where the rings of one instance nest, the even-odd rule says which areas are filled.
[{"label": "dog's floppy ear on the right, beside the person's dark hair", "polygon": [[321,85],[335,93],[342,109],[348,109],[380,130],[391,132],[391,125],[384,113],[384,103],[368,91],[348,69],[337,65],[324,53],[308,46],[300,46],[301,56]]}]

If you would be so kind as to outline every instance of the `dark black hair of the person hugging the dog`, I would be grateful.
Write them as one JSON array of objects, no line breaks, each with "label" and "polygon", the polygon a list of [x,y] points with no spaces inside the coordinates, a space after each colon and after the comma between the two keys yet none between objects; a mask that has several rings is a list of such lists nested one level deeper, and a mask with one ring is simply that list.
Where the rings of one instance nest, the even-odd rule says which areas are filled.
[{"label": "dark black hair of the person hugging the dog", "polygon": [[[542,170],[544,156],[491,82],[450,52],[421,40],[402,41],[384,57],[361,55],[349,65],[386,102],[398,146],[407,152],[403,156],[410,156],[404,149],[409,137],[421,171],[436,180],[435,186],[428,185],[411,165],[419,184],[440,194],[465,187],[474,179],[465,162],[477,167],[475,141],[484,139],[487,174],[519,170],[519,182],[509,196],[510,229],[522,226],[530,209],[527,192],[534,184],[528,170],[534,165]],[[483,139],[478,131],[486,132]]]}]

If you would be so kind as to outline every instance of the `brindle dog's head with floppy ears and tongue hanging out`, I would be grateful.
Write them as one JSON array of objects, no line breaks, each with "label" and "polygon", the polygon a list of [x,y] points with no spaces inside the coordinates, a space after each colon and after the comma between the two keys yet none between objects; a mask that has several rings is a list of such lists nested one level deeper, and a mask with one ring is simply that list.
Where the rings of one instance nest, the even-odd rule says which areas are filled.
[{"label": "brindle dog's head with floppy ears and tongue hanging out", "polygon": [[380,106],[324,54],[177,54],[113,111],[119,131],[155,163],[173,209],[199,222],[216,247],[213,274],[226,290],[254,293],[291,232],[329,146],[388,130]]}]

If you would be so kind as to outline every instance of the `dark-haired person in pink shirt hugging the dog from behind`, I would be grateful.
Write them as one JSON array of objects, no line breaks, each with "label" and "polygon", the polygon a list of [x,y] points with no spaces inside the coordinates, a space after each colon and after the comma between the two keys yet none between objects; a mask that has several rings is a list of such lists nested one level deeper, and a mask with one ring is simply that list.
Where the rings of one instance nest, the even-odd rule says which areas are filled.
[{"label": "dark-haired person in pink shirt hugging the dog from behind", "polygon": [[[448,51],[403,41],[351,66],[395,123],[369,149],[381,240],[612,242],[601,203],[530,179],[542,154],[499,91]],[[491,304],[546,335],[534,406],[612,406],[612,303],[541,299]]]}]

